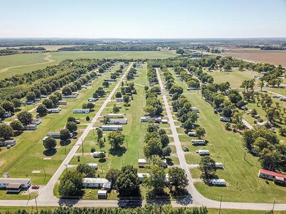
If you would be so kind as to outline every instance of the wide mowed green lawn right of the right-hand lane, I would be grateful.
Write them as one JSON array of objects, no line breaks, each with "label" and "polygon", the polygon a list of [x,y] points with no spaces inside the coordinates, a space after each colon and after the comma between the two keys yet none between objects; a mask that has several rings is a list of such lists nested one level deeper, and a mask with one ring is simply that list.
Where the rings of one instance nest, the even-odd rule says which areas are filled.
[{"label": "wide mowed green lawn right of the right-hand lane", "polygon": [[[170,71],[173,72],[171,69]],[[175,81],[180,85],[182,83],[176,77]],[[186,84],[183,83],[183,86],[186,91]],[[220,116],[213,113],[211,105],[205,102],[200,94],[185,94],[185,96],[192,106],[199,108],[197,123],[205,128],[204,139],[208,141],[206,146],[192,146],[190,141],[194,138],[186,134],[179,135],[182,146],[186,145],[190,150],[185,155],[187,162],[198,164],[200,156],[195,153],[195,150],[207,149],[212,159],[225,163],[223,170],[217,170],[217,175],[226,180],[227,187],[210,187],[198,181],[194,184],[196,189],[205,197],[214,200],[219,200],[222,194],[223,201],[272,203],[274,196],[277,203],[285,203],[285,187],[277,186],[271,181],[266,184],[265,180],[258,177],[260,163],[256,157],[246,153],[246,161],[244,160],[245,149],[242,146],[241,135],[226,131],[225,123],[219,121]],[[182,130],[180,133],[184,133],[182,128],[177,128],[177,130]],[[197,168],[190,169],[190,172],[194,178],[199,178],[200,172]],[[237,182],[238,189],[236,188]]]}]

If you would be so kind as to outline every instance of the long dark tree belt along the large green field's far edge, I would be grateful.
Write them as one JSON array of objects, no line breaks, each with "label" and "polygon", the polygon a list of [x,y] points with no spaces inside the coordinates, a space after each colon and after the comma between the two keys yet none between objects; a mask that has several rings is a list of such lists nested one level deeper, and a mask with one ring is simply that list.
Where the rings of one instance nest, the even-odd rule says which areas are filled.
[{"label": "long dark tree belt along the large green field's far edge", "polygon": [[59,51],[158,51],[157,45],[84,45],[74,47],[62,47]]}]

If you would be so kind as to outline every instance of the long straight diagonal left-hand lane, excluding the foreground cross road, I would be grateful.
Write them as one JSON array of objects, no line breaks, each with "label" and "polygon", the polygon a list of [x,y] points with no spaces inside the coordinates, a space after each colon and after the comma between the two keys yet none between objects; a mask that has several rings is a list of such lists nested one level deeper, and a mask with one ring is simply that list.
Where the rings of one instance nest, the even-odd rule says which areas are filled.
[{"label": "long straight diagonal left-hand lane, excluding the foreground cross road", "polygon": [[61,163],[61,165],[59,166],[59,168],[57,169],[57,171],[55,172],[53,177],[51,177],[51,179],[49,180],[47,185],[45,185],[43,191],[38,196],[38,200],[39,201],[58,200],[53,195],[53,187],[54,187],[55,183],[58,181],[59,176],[63,173],[63,171],[65,169],[65,166],[69,164],[69,162],[72,160],[72,158],[73,158],[74,154],[76,153],[76,151],[78,150],[78,148],[80,148],[80,146],[82,145],[82,141],[86,138],[86,136],[88,135],[90,130],[92,130],[93,124],[96,122],[96,120],[98,119],[98,117],[100,116],[100,114],[102,113],[102,111],[104,110],[106,105],[108,104],[108,102],[110,102],[113,94],[115,93],[117,88],[121,85],[121,82],[123,81],[123,79],[126,76],[127,72],[130,70],[132,64],[133,63],[131,63],[129,68],[126,70],[126,72],[124,72],[123,76],[120,78],[120,80],[116,84],[115,88],[109,94],[108,98],[104,101],[104,103],[102,104],[102,106],[100,107],[100,109],[98,110],[97,114],[94,116],[94,118],[92,119],[92,121],[90,122],[90,124],[88,125],[86,130],[84,131],[84,133],[80,136],[80,138],[78,139],[78,141],[76,142],[76,144],[74,145],[72,150],[66,156],[65,160],[63,160],[63,162]]}]

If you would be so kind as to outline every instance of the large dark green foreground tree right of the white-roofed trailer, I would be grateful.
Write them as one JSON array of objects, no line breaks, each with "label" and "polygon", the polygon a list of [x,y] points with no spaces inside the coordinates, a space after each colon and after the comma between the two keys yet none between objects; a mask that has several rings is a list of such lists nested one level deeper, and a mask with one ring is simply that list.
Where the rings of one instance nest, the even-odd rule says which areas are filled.
[{"label": "large dark green foreground tree right of the white-roofed trailer", "polygon": [[139,191],[137,169],[132,165],[122,167],[115,182],[115,189],[121,196],[137,195]]}]

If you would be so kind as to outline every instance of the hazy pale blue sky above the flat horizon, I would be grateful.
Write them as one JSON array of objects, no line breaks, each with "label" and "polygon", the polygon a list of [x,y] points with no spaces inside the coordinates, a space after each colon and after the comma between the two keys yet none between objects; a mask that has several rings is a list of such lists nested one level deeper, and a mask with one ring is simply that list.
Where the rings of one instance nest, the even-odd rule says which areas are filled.
[{"label": "hazy pale blue sky above the flat horizon", "polygon": [[6,0],[0,37],[286,37],[286,0]]}]

